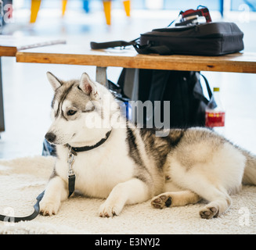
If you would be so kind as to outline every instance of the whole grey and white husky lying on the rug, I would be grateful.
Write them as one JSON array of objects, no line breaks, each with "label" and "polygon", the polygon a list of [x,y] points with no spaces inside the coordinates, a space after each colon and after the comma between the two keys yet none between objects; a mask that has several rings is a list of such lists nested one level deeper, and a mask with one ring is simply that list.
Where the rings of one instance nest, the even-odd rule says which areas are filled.
[{"label": "whole grey and white husky lying on the rug", "polygon": [[[86,73],[81,80],[63,81],[52,73],[47,77],[55,95],[45,138],[56,145],[57,158],[40,202],[43,215],[56,214],[68,198],[70,166],[76,190],[106,198],[99,207],[102,217],[117,216],[124,205],[152,198],[156,209],[207,200],[199,214],[211,219],[229,209],[229,195],[242,184],[256,184],[256,156],[215,132],[171,129],[168,136],[157,137],[154,129],[130,126],[110,91]],[[74,148],[91,150],[72,154],[70,165]]]}]

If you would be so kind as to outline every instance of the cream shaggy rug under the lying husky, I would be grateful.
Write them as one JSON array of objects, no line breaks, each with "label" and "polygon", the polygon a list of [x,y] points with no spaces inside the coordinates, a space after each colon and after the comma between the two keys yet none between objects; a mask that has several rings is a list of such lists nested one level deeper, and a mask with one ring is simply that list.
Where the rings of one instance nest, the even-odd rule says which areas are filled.
[{"label": "cream shaggy rug under the lying husky", "polygon": [[[0,160],[0,213],[32,213],[54,161],[43,156]],[[150,201],[125,206],[120,216],[100,218],[102,199],[75,195],[63,202],[56,216],[0,222],[0,234],[256,234],[256,187],[243,187],[232,198],[225,215],[202,220],[198,212],[204,203],[159,210],[151,208]]]}]

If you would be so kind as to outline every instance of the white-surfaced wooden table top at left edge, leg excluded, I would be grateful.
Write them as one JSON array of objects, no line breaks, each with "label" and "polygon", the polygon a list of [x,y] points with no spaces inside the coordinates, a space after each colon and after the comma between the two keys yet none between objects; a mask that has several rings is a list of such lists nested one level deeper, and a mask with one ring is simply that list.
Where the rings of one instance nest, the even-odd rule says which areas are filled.
[{"label": "white-surfaced wooden table top at left edge, leg excluded", "polygon": [[0,56],[15,56],[19,50],[48,45],[65,44],[63,39],[46,37],[14,37],[0,35]]}]

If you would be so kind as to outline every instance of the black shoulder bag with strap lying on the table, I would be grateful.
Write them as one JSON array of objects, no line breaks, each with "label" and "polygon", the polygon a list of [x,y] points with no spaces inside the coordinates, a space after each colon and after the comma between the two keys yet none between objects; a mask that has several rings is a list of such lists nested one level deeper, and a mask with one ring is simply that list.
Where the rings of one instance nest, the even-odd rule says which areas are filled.
[{"label": "black shoulder bag with strap lying on the table", "polygon": [[128,45],[139,54],[225,55],[243,50],[243,32],[236,23],[202,23],[155,29],[133,41],[91,42],[92,49]]}]

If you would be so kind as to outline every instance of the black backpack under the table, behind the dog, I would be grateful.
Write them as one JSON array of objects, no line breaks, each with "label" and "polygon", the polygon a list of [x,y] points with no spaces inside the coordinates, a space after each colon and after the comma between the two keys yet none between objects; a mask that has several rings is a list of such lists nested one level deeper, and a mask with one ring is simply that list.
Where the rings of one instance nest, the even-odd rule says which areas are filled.
[{"label": "black backpack under the table, behind the dog", "polygon": [[[124,88],[126,69],[121,73],[118,84]],[[209,98],[212,96],[207,79],[204,82]],[[170,101],[170,124],[168,127],[204,127],[205,109],[209,102],[204,97],[200,73],[195,71],[139,70],[139,101],[160,101],[160,120],[164,122],[164,101]],[[153,116],[151,117],[153,119]],[[143,125],[146,125],[143,112]],[[154,121],[154,119],[153,119]],[[153,127],[155,124],[153,123]],[[167,126],[165,126],[167,128]]]}]

